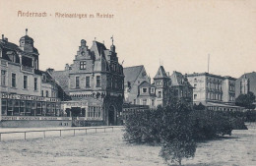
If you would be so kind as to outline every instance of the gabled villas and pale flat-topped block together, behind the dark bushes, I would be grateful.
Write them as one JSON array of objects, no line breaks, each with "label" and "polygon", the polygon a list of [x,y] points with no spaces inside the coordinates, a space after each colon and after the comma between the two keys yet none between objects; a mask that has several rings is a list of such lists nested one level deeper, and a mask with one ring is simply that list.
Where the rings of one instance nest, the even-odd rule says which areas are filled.
[{"label": "gabled villas and pale flat-topped block together, behind the dark bushes", "polygon": [[125,102],[133,105],[165,106],[170,97],[186,100],[191,104],[207,106],[211,110],[242,110],[235,106],[236,79],[209,73],[172,75],[160,66],[153,78],[147,76],[144,66],[124,68]]}]

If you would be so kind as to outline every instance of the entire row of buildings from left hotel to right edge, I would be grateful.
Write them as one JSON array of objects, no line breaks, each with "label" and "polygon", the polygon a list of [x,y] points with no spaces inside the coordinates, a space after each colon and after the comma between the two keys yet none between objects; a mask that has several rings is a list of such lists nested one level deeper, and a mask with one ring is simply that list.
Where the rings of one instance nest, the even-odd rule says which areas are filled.
[{"label": "entire row of buildings from left hotel to right edge", "polygon": [[19,45],[0,39],[0,127],[119,125],[130,111],[166,106],[171,98],[212,110],[241,110],[240,93],[256,93],[256,74],[239,79],[208,73],[171,75],[160,66],[151,79],[144,66],[123,68],[115,45],[82,39],[63,71],[39,70],[39,53],[26,34]]}]

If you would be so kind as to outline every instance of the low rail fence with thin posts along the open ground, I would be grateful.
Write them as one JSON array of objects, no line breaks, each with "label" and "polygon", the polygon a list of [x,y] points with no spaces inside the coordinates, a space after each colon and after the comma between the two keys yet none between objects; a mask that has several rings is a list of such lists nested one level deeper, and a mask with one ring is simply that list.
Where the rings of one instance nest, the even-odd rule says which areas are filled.
[{"label": "low rail fence with thin posts along the open ground", "polygon": [[[123,128],[122,126],[115,126],[115,127],[88,127],[88,128],[69,128],[69,129],[52,129],[52,130],[36,130],[36,131],[19,131],[19,132],[1,132],[0,133],[0,141],[2,141],[2,137],[4,135],[12,135],[12,134],[22,134],[24,136],[24,139],[26,140],[28,138],[27,134],[29,133],[42,133],[42,137],[37,137],[37,138],[46,138],[46,133],[48,132],[57,132],[58,133],[58,136],[61,137],[62,136],[62,133],[64,131],[72,131],[73,134],[72,136],[76,136],[76,132],[77,131],[85,131],[84,134],[88,134],[89,131],[95,131],[93,133],[97,133],[99,132],[99,130],[103,130],[103,132],[107,132],[107,130],[111,132],[114,131],[114,129],[121,129]],[[56,136],[55,136],[56,137]],[[9,138],[9,139],[12,139],[12,138]]]}]

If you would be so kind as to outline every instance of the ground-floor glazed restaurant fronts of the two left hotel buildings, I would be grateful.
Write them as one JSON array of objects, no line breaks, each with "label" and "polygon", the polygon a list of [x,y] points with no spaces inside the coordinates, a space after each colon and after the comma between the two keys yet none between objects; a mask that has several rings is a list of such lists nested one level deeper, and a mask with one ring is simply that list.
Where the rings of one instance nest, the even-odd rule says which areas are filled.
[{"label": "ground-floor glazed restaurant fronts of the two left hotel buildings", "polygon": [[122,103],[104,98],[59,98],[2,93],[0,127],[70,127],[121,125]]}]

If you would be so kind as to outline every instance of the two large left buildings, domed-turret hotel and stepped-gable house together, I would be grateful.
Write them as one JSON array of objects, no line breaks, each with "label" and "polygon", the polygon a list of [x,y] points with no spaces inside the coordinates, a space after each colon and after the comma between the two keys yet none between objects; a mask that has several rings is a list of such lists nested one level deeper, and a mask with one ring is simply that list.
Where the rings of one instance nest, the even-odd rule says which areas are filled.
[{"label": "two large left buildings, domed-turret hotel and stepped-gable house together", "polygon": [[113,43],[107,49],[95,40],[89,48],[82,39],[71,65],[45,72],[33,43],[28,29],[19,45],[0,40],[1,127],[121,123],[124,75]]}]

